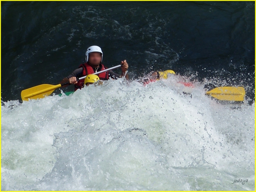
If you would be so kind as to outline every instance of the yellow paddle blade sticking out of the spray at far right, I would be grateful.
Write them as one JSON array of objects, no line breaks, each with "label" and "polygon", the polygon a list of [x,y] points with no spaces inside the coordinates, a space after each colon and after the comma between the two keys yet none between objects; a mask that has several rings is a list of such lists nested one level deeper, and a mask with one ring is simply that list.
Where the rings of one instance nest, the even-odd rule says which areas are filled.
[{"label": "yellow paddle blade sticking out of the spray at far right", "polygon": [[217,87],[213,90],[207,91],[206,94],[218,100],[243,101],[245,90],[243,87]]}]

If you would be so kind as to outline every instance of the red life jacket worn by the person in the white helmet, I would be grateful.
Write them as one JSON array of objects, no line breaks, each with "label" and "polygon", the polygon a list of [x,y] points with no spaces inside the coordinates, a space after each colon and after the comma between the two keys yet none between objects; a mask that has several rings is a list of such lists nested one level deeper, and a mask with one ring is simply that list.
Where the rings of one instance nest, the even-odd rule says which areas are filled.
[{"label": "red life jacket worn by the person in the white helmet", "polygon": [[[95,71],[93,70],[93,67],[90,66],[88,63],[81,64],[78,67],[78,69],[81,67],[83,68],[83,74],[81,77],[95,73]],[[105,69],[107,69],[107,68],[103,64],[100,64],[97,72],[105,70]],[[100,80],[108,80],[108,71],[100,73],[97,76],[99,76]],[[82,89],[84,86],[85,86],[85,79],[79,80],[78,83],[75,84],[75,91],[78,89]]]}]

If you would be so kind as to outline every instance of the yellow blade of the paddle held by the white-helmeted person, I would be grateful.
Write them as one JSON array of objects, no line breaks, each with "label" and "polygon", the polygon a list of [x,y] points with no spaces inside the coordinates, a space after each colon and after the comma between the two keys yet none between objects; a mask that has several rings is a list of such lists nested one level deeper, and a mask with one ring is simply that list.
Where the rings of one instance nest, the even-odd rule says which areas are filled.
[{"label": "yellow blade of the paddle held by the white-helmeted person", "polygon": [[40,99],[50,95],[55,89],[61,87],[58,85],[42,84],[29,89],[21,91],[22,101],[28,101],[28,99]]}]

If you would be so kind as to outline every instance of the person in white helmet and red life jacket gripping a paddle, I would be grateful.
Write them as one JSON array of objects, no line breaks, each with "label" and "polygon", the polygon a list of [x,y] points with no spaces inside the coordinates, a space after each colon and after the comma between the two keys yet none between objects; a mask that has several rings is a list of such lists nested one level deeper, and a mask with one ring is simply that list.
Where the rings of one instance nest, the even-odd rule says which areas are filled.
[{"label": "person in white helmet and red life jacket gripping a paddle", "polygon": [[[93,74],[104,69],[107,69],[101,62],[103,58],[103,53],[100,47],[98,46],[90,46],[86,50],[85,60],[86,63],[80,64],[78,69],[74,70],[72,74],[67,76],[63,79],[63,81],[69,81],[70,84],[75,85],[75,91],[77,89],[81,89],[84,87],[84,80],[77,81],[77,77],[86,76],[89,74]],[[121,61],[122,67],[122,74],[116,74],[112,70],[105,71],[103,73],[98,74],[100,80],[109,80],[109,77],[116,79],[123,77],[128,69],[128,63],[126,60]],[[126,79],[128,80],[128,74],[125,75]]]}]

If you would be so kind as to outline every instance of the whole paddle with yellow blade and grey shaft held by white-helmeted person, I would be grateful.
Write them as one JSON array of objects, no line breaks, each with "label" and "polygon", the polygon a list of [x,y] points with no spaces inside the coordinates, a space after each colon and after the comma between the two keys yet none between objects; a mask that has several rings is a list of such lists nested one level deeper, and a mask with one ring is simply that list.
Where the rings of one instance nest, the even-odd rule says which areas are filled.
[{"label": "whole paddle with yellow blade and grey shaft held by white-helmeted person", "polygon": [[[105,69],[105,70],[102,70],[102,71],[99,71],[99,72],[93,73],[93,74],[97,75],[97,74],[103,73],[105,71],[109,71],[109,70],[112,70],[112,69],[119,68],[121,66],[122,66],[122,64],[117,65],[115,67],[110,67],[108,69]],[[86,76],[77,78],[77,81],[82,80],[84,78],[86,78]],[[40,98],[43,98],[45,96],[48,96],[48,95],[52,94],[52,92],[55,89],[60,88],[64,85],[68,85],[68,84],[70,84],[70,83],[65,82],[65,83],[61,83],[61,84],[58,84],[58,85],[50,85],[50,84],[38,85],[38,86],[35,86],[35,87],[32,87],[32,88],[25,89],[25,90],[21,91],[21,98],[22,98],[22,101],[28,101],[28,99],[38,99],[38,98],[40,99]]]}]

